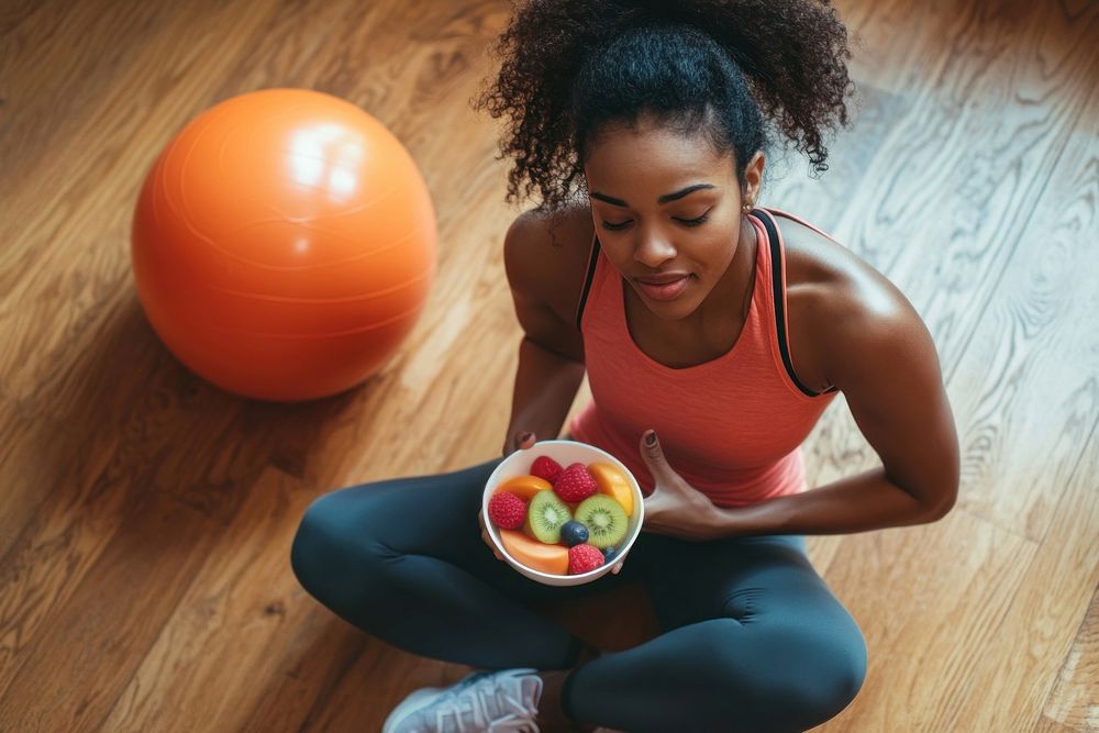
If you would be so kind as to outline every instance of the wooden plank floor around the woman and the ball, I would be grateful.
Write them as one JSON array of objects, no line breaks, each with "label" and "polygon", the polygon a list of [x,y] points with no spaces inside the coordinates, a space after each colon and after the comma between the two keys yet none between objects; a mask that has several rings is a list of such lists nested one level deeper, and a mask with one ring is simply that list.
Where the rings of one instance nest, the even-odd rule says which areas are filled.
[{"label": "wooden plank floor around the woman and the ball", "polygon": [[[865,631],[821,730],[1099,730],[1099,3],[843,0],[861,105],[832,168],[761,203],[886,274],[935,336],[963,446],[932,525],[812,537]],[[315,603],[288,549],[317,496],[503,443],[520,329],[497,123],[468,100],[503,0],[14,0],[0,10],[0,730],[376,731],[467,667]],[[308,87],[406,143],[439,277],[348,393],[244,400],[182,368],[130,269],[138,186],[188,120]],[[589,398],[587,384],[574,412]],[[841,397],[810,481],[877,458]],[[600,598],[622,615],[629,598]],[[639,606],[639,608],[642,608]],[[563,623],[575,609],[548,609]],[[644,613],[599,641],[621,648]]]}]

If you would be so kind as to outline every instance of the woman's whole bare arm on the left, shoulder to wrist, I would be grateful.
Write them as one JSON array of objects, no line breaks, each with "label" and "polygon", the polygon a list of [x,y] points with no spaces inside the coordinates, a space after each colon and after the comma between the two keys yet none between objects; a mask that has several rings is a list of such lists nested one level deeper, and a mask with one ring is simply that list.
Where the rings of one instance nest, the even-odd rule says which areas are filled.
[{"label": "woman's whole bare arm on the left, shoulder to wrist", "polygon": [[[589,214],[588,229],[590,221]],[[568,247],[576,246],[576,237],[584,236],[584,221],[574,218],[554,233],[569,244],[553,246],[545,220],[526,212],[504,237],[504,268],[524,332],[504,456],[521,447],[520,437],[525,432],[534,433],[536,440],[557,437],[584,381],[584,340],[576,325],[562,318],[560,306],[553,306],[555,298],[560,301],[558,293],[571,297],[582,286],[571,281],[582,277],[582,270],[576,267],[577,253]]]}]

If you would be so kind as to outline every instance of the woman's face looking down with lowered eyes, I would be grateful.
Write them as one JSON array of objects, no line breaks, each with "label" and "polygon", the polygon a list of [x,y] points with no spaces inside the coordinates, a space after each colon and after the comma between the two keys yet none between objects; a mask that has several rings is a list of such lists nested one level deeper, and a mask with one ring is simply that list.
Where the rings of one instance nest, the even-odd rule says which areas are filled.
[{"label": "woman's face looking down with lowered eyes", "polygon": [[[762,163],[757,154],[753,164]],[[723,278],[744,227],[731,153],[719,157],[701,136],[643,121],[600,135],[584,170],[602,249],[655,315],[682,319],[730,285]],[[644,284],[669,277],[680,281],[663,292]]]}]

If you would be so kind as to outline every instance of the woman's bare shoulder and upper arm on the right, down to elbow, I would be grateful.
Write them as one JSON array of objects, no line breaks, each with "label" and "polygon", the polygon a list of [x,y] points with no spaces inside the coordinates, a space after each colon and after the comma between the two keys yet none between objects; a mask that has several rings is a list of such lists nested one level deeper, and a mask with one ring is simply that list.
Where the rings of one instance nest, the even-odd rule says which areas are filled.
[{"label": "woman's bare shoulder and upper arm on the right, down to elbow", "polygon": [[886,476],[923,506],[923,521],[942,518],[957,498],[959,446],[931,332],[855,253],[804,225],[784,227],[798,308],[790,318],[800,321],[797,337],[820,369],[814,375],[843,392]]}]

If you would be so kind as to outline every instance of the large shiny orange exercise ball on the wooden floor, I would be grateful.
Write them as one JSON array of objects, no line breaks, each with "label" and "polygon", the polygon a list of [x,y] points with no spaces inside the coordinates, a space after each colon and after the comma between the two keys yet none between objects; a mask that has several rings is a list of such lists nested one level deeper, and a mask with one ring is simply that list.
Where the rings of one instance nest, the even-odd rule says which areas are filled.
[{"label": "large shiny orange exercise ball on the wooden floor", "polygon": [[142,307],[187,367],[299,401],[377,373],[435,276],[435,211],[401,142],[355,104],[266,89],[207,110],[145,178]]}]

